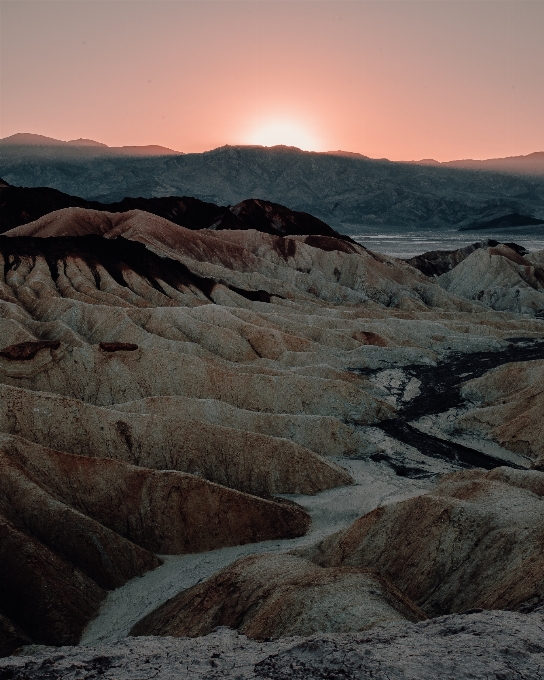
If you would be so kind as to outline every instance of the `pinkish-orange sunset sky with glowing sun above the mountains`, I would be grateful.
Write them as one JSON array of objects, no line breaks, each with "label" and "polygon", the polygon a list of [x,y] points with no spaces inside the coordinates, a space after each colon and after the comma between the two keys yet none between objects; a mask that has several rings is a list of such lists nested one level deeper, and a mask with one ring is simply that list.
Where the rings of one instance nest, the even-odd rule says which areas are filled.
[{"label": "pinkish-orange sunset sky with glowing sun above the mountains", "polygon": [[0,137],[544,150],[544,0],[1,0]]}]

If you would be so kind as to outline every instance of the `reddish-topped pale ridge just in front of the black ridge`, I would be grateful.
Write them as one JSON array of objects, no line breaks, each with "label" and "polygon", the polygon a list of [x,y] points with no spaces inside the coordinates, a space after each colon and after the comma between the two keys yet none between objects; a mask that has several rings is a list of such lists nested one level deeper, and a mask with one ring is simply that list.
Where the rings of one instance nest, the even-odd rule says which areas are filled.
[{"label": "reddish-topped pale ridge just in front of the black ridge", "polygon": [[357,303],[370,298],[417,311],[434,298],[452,310],[471,309],[469,303],[441,293],[409,265],[330,237],[192,231],[141,210],[108,213],[84,208],[58,210],[5,233],[40,238],[92,234],[143,243],[215,283],[262,289],[288,299],[294,288],[303,299]]}]

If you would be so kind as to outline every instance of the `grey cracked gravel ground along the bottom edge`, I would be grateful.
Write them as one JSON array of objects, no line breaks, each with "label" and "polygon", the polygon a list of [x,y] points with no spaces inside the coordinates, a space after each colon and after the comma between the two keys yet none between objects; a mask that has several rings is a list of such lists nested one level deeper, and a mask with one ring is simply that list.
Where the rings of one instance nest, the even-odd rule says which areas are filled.
[{"label": "grey cracked gravel ground along the bottom edge", "polygon": [[[529,608],[530,609],[530,608]],[[256,642],[227,628],[201,638],[125,638],[0,659],[0,680],[538,680],[544,608],[475,611],[350,635]]]}]

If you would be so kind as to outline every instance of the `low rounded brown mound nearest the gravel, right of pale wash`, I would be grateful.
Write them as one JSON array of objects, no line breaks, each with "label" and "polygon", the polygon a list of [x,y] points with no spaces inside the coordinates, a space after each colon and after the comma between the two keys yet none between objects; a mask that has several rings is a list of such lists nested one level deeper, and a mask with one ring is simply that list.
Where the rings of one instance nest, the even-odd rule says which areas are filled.
[{"label": "low rounded brown mound nearest the gravel, right of pale wash", "polygon": [[131,635],[196,637],[228,626],[265,640],[424,618],[373,571],[322,568],[289,555],[252,555],[172,598],[137,623]]}]

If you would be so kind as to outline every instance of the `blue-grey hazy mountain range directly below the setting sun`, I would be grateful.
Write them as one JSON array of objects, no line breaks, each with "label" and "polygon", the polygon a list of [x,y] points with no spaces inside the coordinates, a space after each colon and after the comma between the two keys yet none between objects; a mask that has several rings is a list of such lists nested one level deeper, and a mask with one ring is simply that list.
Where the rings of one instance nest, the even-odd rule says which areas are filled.
[{"label": "blue-grey hazy mountain range directly below the setting sun", "polygon": [[[136,158],[64,144],[16,146],[4,140],[0,176],[103,203],[125,196],[194,196],[219,205],[259,198],[316,215],[346,233],[361,224],[451,228],[511,213],[544,218],[544,177],[285,146]],[[70,155],[74,148],[78,157]]]}]

